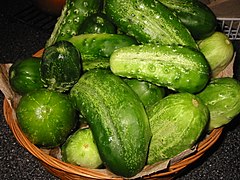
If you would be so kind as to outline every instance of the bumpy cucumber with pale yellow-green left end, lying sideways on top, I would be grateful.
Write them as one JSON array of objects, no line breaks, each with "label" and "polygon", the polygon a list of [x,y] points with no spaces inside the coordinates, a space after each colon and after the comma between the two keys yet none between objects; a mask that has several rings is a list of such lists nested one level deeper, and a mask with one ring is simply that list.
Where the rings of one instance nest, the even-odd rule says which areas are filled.
[{"label": "bumpy cucumber with pale yellow-green left end, lying sideways on top", "polygon": [[137,78],[179,92],[197,93],[209,81],[210,67],[203,54],[183,46],[134,45],[110,57],[116,75]]}]

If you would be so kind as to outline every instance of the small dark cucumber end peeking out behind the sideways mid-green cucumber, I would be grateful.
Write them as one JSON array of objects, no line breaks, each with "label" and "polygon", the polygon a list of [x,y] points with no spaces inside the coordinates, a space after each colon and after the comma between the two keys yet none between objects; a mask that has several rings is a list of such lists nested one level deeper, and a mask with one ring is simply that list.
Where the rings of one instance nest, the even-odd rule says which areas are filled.
[{"label": "small dark cucumber end peeking out behind the sideways mid-green cucumber", "polygon": [[117,27],[103,13],[89,16],[82,24],[79,34],[109,33],[116,34]]}]

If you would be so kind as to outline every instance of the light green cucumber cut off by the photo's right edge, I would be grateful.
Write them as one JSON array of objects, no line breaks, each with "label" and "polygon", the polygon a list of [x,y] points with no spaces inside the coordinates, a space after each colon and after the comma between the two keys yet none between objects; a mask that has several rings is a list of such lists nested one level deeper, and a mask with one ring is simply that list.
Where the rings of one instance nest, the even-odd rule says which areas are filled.
[{"label": "light green cucumber cut off by the photo's right edge", "polygon": [[197,96],[210,111],[209,131],[228,124],[240,113],[240,83],[236,79],[214,78]]}]

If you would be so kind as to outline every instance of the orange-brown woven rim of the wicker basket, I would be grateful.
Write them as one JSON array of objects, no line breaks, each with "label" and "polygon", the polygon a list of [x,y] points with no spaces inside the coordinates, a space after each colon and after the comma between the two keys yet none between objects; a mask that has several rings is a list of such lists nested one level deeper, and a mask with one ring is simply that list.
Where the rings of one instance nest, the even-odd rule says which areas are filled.
[{"label": "orange-brown woven rim of the wicker basket", "polygon": [[[14,115],[13,115],[14,111],[6,98],[4,98],[4,101],[3,101],[3,112],[4,112],[5,120],[9,125],[10,129],[12,130],[16,140],[25,149],[27,149],[33,156],[35,156],[39,161],[43,162],[44,166],[47,165],[49,167],[64,171],[66,173],[76,174],[76,175],[87,177],[87,178],[122,179],[120,177],[115,177],[106,169],[88,169],[88,168],[72,165],[69,163],[65,163],[57,158],[54,158],[46,154],[37,146],[32,144],[24,135],[24,133],[21,131],[17,120],[14,118]],[[197,150],[194,154],[170,165],[167,171],[150,174],[146,176],[146,178],[172,176],[178,173],[179,171],[184,169],[186,166],[190,165],[191,163],[199,159],[219,139],[220,135],[222,134],[222,131],[223,131],[223,127],[214,129],[203,141],[201,141],[198,144]]]}]

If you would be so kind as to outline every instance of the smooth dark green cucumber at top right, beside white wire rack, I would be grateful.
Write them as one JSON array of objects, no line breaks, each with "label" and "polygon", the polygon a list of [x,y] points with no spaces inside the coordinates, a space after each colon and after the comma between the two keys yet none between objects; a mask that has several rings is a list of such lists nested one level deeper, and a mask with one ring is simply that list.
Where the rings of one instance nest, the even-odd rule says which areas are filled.
[{"label": "smooth dark green cucumber at top right, beside white wire rack", "polygon": [[170,8],[188,28],[195,39],[211,36],[217,27],[217,18],[212,10],[196,0],[158,0]]}]

